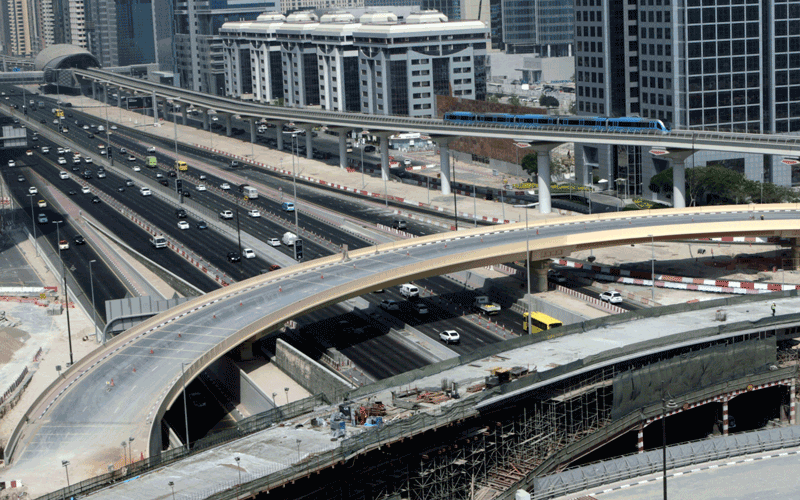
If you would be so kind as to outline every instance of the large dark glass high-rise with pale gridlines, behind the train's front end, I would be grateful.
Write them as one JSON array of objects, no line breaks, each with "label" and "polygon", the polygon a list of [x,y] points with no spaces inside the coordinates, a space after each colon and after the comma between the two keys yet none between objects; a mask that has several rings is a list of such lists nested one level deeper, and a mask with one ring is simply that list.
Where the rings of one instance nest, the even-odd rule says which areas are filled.
[{"label": "large dark glass high-rise with pale gridlines, behind the train's front end", "polygon": [[[800,4],[794,0],[575,0],[580,115],[641,116],[668,127],[800,132]],[[668,167],[641,148],[576,144],[579,180],[624,179],[653,196]],[[781,158],[695,153],[753,180],[800,183]]]}]

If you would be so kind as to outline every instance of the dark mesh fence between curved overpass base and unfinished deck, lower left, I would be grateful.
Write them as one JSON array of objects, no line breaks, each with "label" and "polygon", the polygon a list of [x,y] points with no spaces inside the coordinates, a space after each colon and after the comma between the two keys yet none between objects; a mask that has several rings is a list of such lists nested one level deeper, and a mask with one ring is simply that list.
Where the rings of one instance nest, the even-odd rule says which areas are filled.
[{"label": "dark mesh fence between curved overpass base and unfinished deck, lower left", "polygon": [[240,439],[258,431],[262,431],[270,427],[272,424],[309,413],[316,406],[321,404],[328,404],[328,401],[324,396],[316,395],[295,401],[293,403],[288,403],[277,408],[272,408],[265,412],[259,413],[258,415],[253,415],[252,417],[240,421],[236,426],[236,429],[219,432],[213,436],[196,441],[192,446],[191,451],[186,451],[186,448],[174,448],[172,450],[167,450],[139,462],[134,462],[124,469],[102,474],[100,476],[95,476],[70,485],[68,488],[53,491],[39,497],[37,500],[60,500],[63,498],[86,495],[92,491],[111,486],[115,483],[126,481],[133,477],[144,474],[145,472],[180,460],[189,455],[194,455],[209,448]]}]

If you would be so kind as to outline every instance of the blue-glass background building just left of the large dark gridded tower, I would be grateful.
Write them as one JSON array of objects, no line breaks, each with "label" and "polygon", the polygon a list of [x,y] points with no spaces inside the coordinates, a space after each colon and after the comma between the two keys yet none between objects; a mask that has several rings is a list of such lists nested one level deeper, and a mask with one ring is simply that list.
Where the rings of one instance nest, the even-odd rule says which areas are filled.
[{"label": "blue-glass background building just left of the large dark gridded tower", "polygon": [[492,6],[493,9],[499,9],[502,16],[499,23],[502,46],[514,54],[572,56],[575,39],[573,4],[576,1],[503,0],[498,6]]}]

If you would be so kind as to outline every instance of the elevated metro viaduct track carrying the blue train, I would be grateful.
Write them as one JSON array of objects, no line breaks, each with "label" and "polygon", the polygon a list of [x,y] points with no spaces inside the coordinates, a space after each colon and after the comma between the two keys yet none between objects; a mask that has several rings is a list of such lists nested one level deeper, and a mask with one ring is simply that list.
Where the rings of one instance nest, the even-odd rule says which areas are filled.
[{"label": "elevated metro viaduct track carrying the blue train", "polygon": [[443,120],[403,118],[393,116],[341,113],[297,108],[284,108],[258,103],[242,102],[217,97],[202,92],[181,89],[170,85],[147,82],[138,78],[116,75],[102,70],[74,70],[75,75],[86,80],[155,95],[161,99],[174,99],[197,108],[219,113],[239,115],[284,122],[298,122],[328,127],[367,129],[371,132],[417,131],[434,137],[492,137],[528,142],[563,143],[586,142],[593,144],[625,144],[631,146],[671,149],[728,151],[736,153],[776,154],[800,156],[800,138],[774,134],[738,134],[730,132],[705,132],[673,130],[668,134],[655,131],[600,132],[592,130],[567,130],[564,128],[524,129],[493,124],[456,124]]}]

